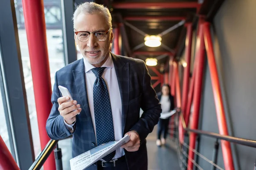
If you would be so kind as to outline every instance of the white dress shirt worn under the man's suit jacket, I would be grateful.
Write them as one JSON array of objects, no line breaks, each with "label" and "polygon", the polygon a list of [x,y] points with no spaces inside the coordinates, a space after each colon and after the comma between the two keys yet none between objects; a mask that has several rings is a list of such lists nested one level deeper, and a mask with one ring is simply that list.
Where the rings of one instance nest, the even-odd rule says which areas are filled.
[{"label": "white dress shirt worn under the man's suit jacket", "polygon": [[[112,117],[113,117],[113,126],[114,126],[114,134],[115,134],[115,140],[118,141],[122,139],[122,102],[121,102],[121,95],[119,91],[119,85],[117,82],[116,77],[116,70],[114,68],[113,59],[111,55],[109,55],[106,62],[102,65],[102,67],[106,67],[102,78],[105,80],[107,86],[108,86],[108,92],[109,92],[109,98],[110,98],[110,104],[111,104],[111,111],[112,111]],[[93,119],[93,127],[96,134],[96,126],[95,126],[95,117],[94,117],[94,107],[93,107],[93,85],[96,80],[96,76],[91,71],[92,68],[95,68],[93,65],[89,64],[84,59],[84,68],[85,68],[85,82],[86,82],[86,89],[87,89],[87,98],[89,102],[90,107],[90,113]],[[81,103],[78,103],[81,105]],[[68,125],[64,121],[65,125],[73,130],[73,125]],[[118,148],[116,150],[116,155],[113,157],[113,159],[117,159],[121,156],[125,155],[123,148]]]}]

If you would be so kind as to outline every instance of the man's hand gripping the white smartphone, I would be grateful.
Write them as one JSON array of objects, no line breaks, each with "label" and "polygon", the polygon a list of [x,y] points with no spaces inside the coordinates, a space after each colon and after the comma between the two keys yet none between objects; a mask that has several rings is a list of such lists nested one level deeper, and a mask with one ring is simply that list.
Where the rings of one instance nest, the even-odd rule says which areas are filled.
[{"label": "man's hand gripping the white smartphone", "polygon": [[71,100],[67,102],[70,98],[68,96],[63,96],[58,98],[58,111],[61,116],[64,117],[65,122],[69,125],[76,121],[76,115],[81,112],[80,105],[77,104],[76,100]]}]

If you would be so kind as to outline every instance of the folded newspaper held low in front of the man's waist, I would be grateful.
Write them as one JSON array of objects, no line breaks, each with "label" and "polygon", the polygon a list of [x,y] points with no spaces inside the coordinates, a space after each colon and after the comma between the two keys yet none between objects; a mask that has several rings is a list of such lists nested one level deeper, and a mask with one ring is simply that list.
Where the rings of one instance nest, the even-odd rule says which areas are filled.
[{"label": "folded newspaper held low in front of the man's waist", "polygon": [[103,157],[107,156],[109,153],[113,152],[126,142],[130,140],[128,135],[125,135],[119,141],[111,141],[105,144],[101,144],[73,159],[70,159],[71,170],[84,170],[96,161],[99,161]]}]

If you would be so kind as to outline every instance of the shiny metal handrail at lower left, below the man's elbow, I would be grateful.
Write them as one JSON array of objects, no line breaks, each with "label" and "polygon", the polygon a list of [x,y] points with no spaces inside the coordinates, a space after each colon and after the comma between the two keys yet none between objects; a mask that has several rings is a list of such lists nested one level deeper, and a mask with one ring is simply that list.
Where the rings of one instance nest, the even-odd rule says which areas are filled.
[{"label": "shiny metal handrail at lower left, below the man's elbow", "polygon": [[52,153],[55,145],[58,143],[58,140],[49,140],[47,145],[44,147],[44,150],[39,154],[37,159],[31,165],[29,170],[40,170],[44,162],[47,160],[48,156]]}]

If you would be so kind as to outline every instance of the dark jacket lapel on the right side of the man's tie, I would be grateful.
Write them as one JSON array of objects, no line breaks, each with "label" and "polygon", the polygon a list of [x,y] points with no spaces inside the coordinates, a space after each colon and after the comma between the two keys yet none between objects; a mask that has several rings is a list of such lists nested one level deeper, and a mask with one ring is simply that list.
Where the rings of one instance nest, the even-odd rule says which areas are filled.
[{"label": "dark jacket lapel on the right side of the man's tie", "polygon": [[116,77],[119,85],[119,91],[122,101],[122,134],[125,129],[125,122],[127,117],[129,105],[129,63],[125,63],[119,56],[112,54],[112,59],[116,71]]}]

